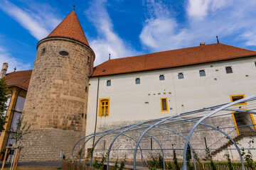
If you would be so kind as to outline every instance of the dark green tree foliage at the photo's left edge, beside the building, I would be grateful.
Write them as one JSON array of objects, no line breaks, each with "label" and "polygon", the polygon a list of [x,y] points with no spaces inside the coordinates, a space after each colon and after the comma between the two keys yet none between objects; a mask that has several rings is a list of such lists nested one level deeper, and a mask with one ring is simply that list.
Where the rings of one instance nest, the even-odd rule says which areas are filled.
[{"label": "dark green tree foliage at the photo's left edge, beside the building", "polygon": [[6,115],[5,111],[7,109],[7,101],[8,101],[8,88],[4,78],[0,79],[0,132],[4,130],[4,124],[6,123]]}]

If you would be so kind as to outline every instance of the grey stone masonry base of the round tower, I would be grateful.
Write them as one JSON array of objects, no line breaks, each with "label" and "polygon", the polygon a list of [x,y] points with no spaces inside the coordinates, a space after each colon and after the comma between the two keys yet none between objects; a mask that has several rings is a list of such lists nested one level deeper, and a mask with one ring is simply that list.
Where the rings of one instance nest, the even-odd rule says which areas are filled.
[{"label": "grey stone masonry base of the round tower", "polygon": [[21,162],[44,162],[60,160],[60,150],[67,159],[75,143],[80,140],[84,132],[73,130],[44,129],[33,130],[23,139]]}]

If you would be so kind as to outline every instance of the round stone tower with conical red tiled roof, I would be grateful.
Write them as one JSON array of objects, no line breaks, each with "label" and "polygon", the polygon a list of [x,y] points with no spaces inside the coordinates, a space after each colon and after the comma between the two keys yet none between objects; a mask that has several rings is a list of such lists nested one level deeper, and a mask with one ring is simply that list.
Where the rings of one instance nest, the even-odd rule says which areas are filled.
[{"label": "round stone tower with conical red tiled roof", "polygon": [[59,160],[85,136],[87,91],[95,53],[75,11],[38,42],[23,120],[31,125],[21,141],[21,161]]}]

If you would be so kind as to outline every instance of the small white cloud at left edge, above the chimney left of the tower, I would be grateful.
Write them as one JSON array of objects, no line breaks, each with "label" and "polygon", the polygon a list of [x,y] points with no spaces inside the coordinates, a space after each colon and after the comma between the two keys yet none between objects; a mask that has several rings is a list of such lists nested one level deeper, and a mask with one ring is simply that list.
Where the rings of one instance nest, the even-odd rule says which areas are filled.
[{"label": "small white cloud at left edge, above the chimney left of the tower", "polygon": [[16,67],[16,71],[31,69],[31,64],[23,63],[18,58],[13,57],[4,47],[0,46],[0,69],[4,62],[9,65],[7,72],[14,72],[14,67]]}]

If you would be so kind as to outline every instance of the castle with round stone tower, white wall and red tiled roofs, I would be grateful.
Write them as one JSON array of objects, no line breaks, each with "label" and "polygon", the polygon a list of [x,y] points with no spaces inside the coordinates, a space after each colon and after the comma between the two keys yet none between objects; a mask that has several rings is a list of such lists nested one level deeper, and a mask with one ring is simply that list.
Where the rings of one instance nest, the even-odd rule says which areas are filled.
[{"label": "castle with round stone tower, white wall and red tiled roofs", "polygon": [[[33,71],[6,74],[11,100],[5,128],[16,128],[22,114],[31,125],[21,160],[57,160],[85,134],[256,94],[256,52],[239,47],[201,43],[93,67],[95,57],[72,11],[38,42]],[[249,121],[255,124],[255,117]],[[1,150],[13,142],[1,133]]]}]

